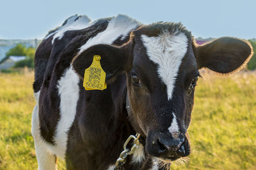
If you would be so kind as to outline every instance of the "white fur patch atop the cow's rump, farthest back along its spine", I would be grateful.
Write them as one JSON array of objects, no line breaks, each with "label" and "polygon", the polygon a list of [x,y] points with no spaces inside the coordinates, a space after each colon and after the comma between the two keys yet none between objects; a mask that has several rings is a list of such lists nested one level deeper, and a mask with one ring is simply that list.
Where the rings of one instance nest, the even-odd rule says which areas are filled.
[{"label": "white fur patch atop the cow's rump, farthest back along its spine", "polygon": [[[66,31],[84,29],[93,24],[92,22],[90,22],[91,21],[90,18],[88,18],[86,15],[83,15],[79,18],[77,18],[77,17],[78,17],[77,15],[74,15],[74,16],[68,18],[65,25],[62,25],[61,27],[56,29],[56,31],[52,32],[51,34],[48,34],[44,39],[47,39],[50,36],[52,36],[52,34],[54,34],[54,36],[52,38],[52,44],[53,44],[54,40],[56,38],[61,39]],[[77,20],[76,20],[76,18],[77,18]]]}]

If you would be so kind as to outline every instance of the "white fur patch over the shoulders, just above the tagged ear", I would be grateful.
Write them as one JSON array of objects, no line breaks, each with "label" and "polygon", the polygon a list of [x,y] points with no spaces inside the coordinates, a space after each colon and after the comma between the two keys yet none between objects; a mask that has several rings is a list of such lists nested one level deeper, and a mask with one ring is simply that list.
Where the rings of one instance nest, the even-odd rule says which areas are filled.
[{"label": "white fur patch over the shoulders, just above the tagged ear", "polygon": [[130,31],[139,25],[139,22],[127,17],[126,15],[118,15],[117,17],[113,17],[109,21],[106,30],[99,32],[97,36],[89,39],[83,46],[81,46],[79,54],[90,46],[98,44],[111,45],[113,41],[120,36],[122,36],[121,39],[124,39]]}]

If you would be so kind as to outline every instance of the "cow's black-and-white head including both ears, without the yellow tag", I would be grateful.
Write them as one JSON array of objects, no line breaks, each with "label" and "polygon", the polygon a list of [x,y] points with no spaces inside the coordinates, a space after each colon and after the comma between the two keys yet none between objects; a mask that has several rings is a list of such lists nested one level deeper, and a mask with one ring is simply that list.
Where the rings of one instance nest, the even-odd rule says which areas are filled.
[{"label": "cow's black-and-white head including both ears, without the yellow tag", "polygon": [[83,76],[96,54],[102,57],[107,83],[118,73],[126,74],[130,122],[146,137],[147,153],[175,160],[190,153],[187,130],[198,69],[237,71],[252,56],[252,47],[228,37],[198,46],[181,24],[157,23],[132,31],[125,45],[88,48],[73,62],[78,74]]}]

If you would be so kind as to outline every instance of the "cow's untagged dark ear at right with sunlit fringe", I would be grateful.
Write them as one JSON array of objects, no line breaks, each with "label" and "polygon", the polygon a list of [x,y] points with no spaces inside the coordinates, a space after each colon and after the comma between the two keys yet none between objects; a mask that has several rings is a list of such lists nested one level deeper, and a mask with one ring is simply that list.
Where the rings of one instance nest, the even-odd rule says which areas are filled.
[{"label": "cow's untagged dark ear at right with sunlit fringe", "polygon": [[198,69],[208,67],[218,73],[239,71],[253,55],[248,41],[223,37],[205,45],[196,46]]}]

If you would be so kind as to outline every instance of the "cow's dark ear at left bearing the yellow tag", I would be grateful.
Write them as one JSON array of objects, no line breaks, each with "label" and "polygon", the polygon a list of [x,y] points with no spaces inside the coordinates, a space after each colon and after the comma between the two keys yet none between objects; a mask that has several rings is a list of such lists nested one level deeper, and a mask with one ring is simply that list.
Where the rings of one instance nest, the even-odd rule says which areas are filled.
[{"label": "cow's dark ear at left bearing the yellow tag", "polygon": [[124,46],[94,45],[74,57],[72,65],[81,78],[84,77],[84,70],[90,67],[94,55],[100,55],[100,65],[106,72],[106,81],[111,80],[116,74],[124,71],[127,61]]}]

